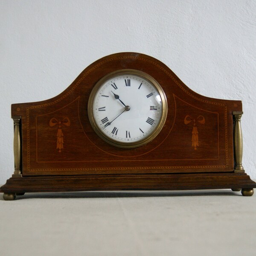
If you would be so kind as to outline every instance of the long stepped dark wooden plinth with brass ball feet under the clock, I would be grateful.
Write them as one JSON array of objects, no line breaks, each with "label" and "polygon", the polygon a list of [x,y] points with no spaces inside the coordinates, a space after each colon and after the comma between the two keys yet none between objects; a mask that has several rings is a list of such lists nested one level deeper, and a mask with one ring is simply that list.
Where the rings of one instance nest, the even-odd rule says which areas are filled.
[{"label": "long stepped dark wooden plinth with brass ball feet under the clock", "polygon": [[25,192],[71,192],[111,190],[191,190],[242,188],[242,195],[253,195],[256,183],[245,173],[198,173],[155,175],[83,175],[11,177],[0,188],[5,200]]}]

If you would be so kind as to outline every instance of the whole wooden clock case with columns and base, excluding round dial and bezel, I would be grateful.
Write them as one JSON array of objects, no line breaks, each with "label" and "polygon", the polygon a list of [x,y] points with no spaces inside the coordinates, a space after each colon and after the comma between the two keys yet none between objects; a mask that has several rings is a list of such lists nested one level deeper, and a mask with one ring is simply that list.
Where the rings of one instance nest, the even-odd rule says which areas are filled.
[{"label": "whole wooden clock case with columns and base, excluding round dial and bezel", "polygon": [[[106,143],[88,119],[93,86],[121,69],[152,76],[167,98],[163,129],[138,148]],[[201,96],[155,58],[134,52],[109,55],[58,96],[12,105],[15,172],[0,192],[5,200],[25,192],[92,190],[230,188],[252,195],[256,183],[241,164],[241,115],[241,101]]]}]

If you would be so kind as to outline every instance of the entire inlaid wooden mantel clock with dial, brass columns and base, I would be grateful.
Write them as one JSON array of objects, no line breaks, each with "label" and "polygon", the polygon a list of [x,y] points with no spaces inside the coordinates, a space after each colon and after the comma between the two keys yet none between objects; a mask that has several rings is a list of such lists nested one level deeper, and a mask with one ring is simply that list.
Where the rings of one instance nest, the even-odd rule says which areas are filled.
[{"label": "entire inlaid wooden mantel clock with dial, brass columns and base", "polygon": [[88,66],[61,94],[12,105],[15,171],[26,192],[232,189],[253,195],[242,166],[241,101],[190,90],[148,55]]}]

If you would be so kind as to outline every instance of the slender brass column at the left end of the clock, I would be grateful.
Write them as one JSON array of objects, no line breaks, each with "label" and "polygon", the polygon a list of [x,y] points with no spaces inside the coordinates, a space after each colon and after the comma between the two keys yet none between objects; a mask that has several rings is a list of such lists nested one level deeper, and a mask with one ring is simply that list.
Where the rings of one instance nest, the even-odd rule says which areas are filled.
[{"label": "slender brass column at the left end of the clock", "polygon": [[12,116],[14,122],[14,140],[13,140],[13,149],[14,149],[14,164],[15,171],[12,177],[21,177],[21,168],[20,168],[20,120],[21,116]]}]

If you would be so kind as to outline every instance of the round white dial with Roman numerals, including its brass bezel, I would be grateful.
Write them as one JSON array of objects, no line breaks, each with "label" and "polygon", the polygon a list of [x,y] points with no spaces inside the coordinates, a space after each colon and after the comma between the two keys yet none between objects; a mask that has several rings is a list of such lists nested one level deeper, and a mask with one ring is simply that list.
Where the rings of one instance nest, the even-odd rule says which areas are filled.
[{"label": "round white dial with Roman numerals, including its brass bezel", "polygon": [[108,143],[134,148],[161,131],[167,115],[166,96],[151,76],[139,70],[117,70],[102,78],[88,102],[93,129]]}]

